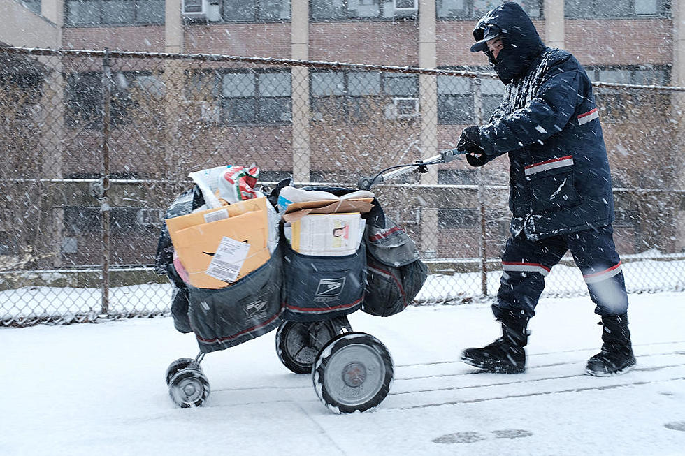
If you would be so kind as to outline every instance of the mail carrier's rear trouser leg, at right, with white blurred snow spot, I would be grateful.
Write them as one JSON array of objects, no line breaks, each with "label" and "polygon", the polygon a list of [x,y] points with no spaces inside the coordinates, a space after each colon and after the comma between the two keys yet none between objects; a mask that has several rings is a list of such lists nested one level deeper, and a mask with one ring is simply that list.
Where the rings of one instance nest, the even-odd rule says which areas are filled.
[{"label": "mail carrier's rear trouser leg, at right, with white blurred snow spot", "polygon": [[603,316],[625,314],[628,293],[621,259],[616,253],[611,225],[568,235],[568,246],[596,304],[595,313]]}]

